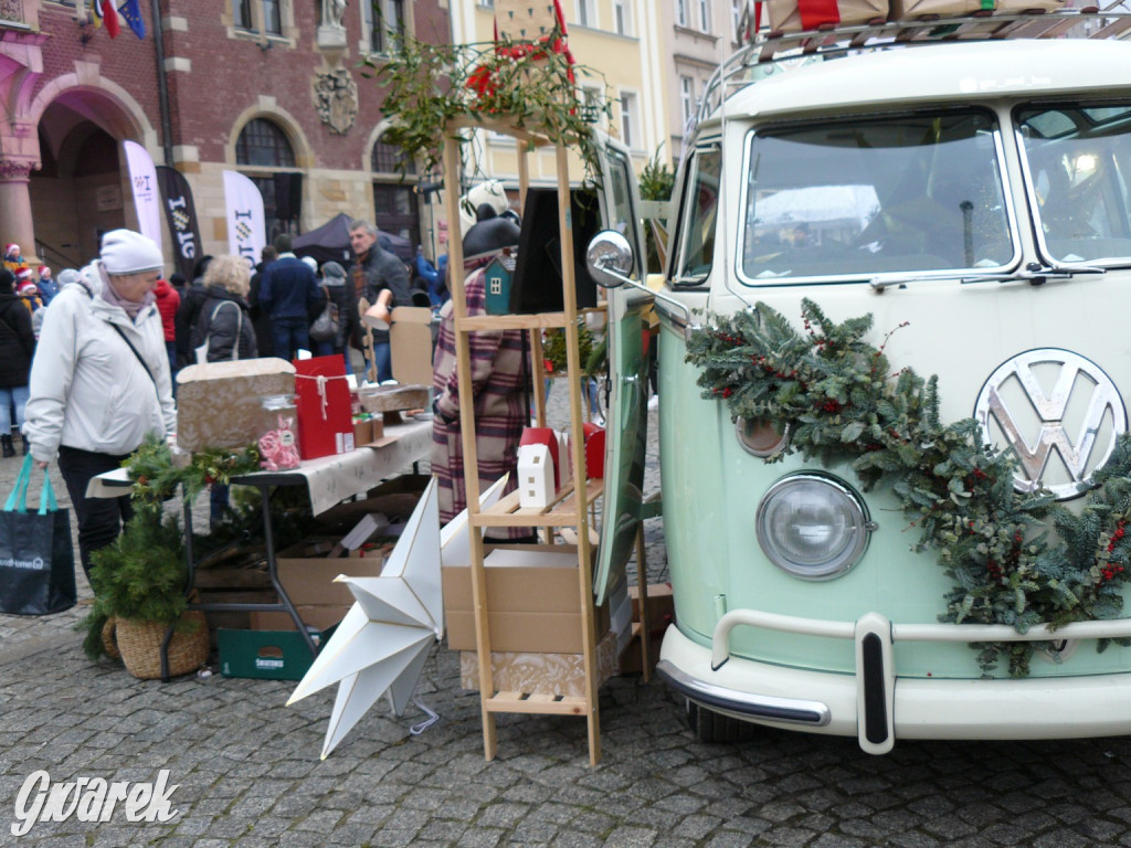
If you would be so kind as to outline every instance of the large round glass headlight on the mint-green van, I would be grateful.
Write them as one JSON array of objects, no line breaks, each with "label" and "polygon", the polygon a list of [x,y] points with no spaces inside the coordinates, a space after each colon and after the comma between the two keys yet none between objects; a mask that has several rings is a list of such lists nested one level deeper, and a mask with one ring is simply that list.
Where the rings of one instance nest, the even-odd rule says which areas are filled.
[{"label": "large round glass headlight on the mint-green van", "polygon": [[758,544],[779,569],[806,580],[848,571],[874,529],[856,493],[823,475],[785,477],[758,504]]}]

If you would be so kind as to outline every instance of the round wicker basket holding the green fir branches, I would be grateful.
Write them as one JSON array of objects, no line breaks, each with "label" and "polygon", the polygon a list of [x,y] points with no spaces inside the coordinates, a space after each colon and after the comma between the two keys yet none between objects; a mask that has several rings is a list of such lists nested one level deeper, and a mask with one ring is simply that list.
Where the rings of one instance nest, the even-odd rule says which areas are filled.
[{"label": "round wicker basket holding the green fir branches", "polygon": [[[208,661],[208,623],[205,614],[191,611],[181,615],[181,622],[192,628],[173,633],[169,643],[169,676],[191,674]],[[158,622],[111,618],[103,628],[102,639],[106,652],[120,654],[126,669],[144,681],[161,677],[161,643],[167,628]]]}]

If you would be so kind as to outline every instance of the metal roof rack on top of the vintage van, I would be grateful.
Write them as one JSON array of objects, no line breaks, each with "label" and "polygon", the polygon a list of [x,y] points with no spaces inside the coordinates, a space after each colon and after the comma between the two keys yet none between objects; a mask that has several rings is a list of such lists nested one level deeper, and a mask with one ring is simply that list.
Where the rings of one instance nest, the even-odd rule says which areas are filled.
[{"label": "metal roof rack on top of the vintage van", "polygon": [[939,42],[1119,38],[1131,29],[1131,12],[1117,8],[1121,6],[1122,2],[1116,2],[1110,9],[1087,6],[1053,11],[984,11],[946,18],[931,15],[913,20],[877,19],[857,26],[827,25],[805,32],[783,33],[757,28],[754,3],[746,2],[739,23],[743,44],[707,81],[696,123],[701,123],[722,105],[727,88],[744,87],[765,79],[791,63]]}]

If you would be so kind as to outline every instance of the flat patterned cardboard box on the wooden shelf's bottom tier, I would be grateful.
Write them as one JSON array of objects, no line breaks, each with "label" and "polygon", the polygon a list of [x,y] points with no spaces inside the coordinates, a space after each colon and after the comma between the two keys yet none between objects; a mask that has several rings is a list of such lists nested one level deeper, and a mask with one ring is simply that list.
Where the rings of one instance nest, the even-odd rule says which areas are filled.
[{"label": "flat patterned cardboard box on the wooden shelf's bottom tier", "polygon": [[[616,637],[606,633],[597,643],[597,685],[616,673]],[[504,692],[582,696],[586,693],[584,654],[491,651],[491,674],[495,689]],[[459,655],[459,685],[478,691],[480,664],[475,651]]]}]

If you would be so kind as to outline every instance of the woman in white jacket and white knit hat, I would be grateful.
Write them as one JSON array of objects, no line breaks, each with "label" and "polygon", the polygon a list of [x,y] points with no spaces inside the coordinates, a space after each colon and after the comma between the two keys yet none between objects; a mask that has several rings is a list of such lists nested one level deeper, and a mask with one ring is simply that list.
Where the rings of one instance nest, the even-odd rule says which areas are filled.
[{"label": "woman in white jacket and white knit hat", "polygon": [[40,467],[59,458],[78,519],[83,569],[131,514],[129,497],[87,497],[90,478],[121,466],[147,433],[176,425],[165,337],[153,288],[161,249],[114,230],[98,259],[51,302],[32,362],[24,432]]}]

